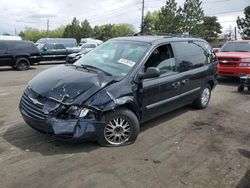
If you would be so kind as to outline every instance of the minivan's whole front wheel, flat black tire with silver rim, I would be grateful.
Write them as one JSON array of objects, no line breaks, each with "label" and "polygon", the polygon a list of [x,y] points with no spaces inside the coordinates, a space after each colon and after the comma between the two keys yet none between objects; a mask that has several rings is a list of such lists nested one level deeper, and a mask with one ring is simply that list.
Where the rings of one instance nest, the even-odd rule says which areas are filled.
[{"label": "minivan's whole front wheel, flat black tire with silver rim", "polygon": [[133,143],[139,134],[136,115],[126,109],[106,114],[106,124],[100,130],[98,143],[102,146],[122,146]]}]

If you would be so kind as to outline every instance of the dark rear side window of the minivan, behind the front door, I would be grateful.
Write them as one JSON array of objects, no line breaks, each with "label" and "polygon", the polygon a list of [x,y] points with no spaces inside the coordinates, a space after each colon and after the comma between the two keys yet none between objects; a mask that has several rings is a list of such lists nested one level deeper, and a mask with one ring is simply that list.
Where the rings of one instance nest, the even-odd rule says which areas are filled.
[{"label": "dark rear side window of the minivan, behind the front door", "polygon": [[207,62],[206,52],[197,42],[174,42],[179,72],[202,67]]}]

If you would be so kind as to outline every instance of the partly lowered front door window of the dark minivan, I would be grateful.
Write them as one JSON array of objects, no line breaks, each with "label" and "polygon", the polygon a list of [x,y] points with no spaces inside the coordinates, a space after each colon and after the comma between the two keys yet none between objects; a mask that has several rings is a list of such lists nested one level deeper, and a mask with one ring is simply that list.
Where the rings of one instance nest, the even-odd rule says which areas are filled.
[{"label": "partly lowered front door window of the dark minivan", "polygon": [[161,74],[177,72],[173,50],[170,44],[156,48],[145,64],[148,67],[157,67]]}]

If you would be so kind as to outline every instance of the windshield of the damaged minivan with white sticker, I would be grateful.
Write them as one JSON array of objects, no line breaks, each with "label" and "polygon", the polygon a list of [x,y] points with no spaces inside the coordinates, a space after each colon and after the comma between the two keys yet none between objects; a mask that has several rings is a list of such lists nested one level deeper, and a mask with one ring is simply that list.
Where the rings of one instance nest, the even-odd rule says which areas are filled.
[{"label": "windshield of the damaged minivan with white sticker", "polygon": [[112,76],[125,76],[144,57],[147,43],[109,41],[87,53],[74,65],[96,68]]}]

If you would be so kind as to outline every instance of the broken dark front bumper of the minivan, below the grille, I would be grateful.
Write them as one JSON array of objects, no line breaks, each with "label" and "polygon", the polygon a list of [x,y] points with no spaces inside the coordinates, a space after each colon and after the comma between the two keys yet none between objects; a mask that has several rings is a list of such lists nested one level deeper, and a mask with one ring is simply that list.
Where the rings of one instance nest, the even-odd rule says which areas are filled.
[{"label": "broken dark front bumper of the minivan, below the grille", "polygon": [[22,106],[20,112],[24,121],[32,128],[46,134],[53,134],[58,138],[69,140],[96,140],[98,130],[104,126],[104,122],[85,119],[57,119],[48,116],[44,120],[38,120],[28,114]]}]

